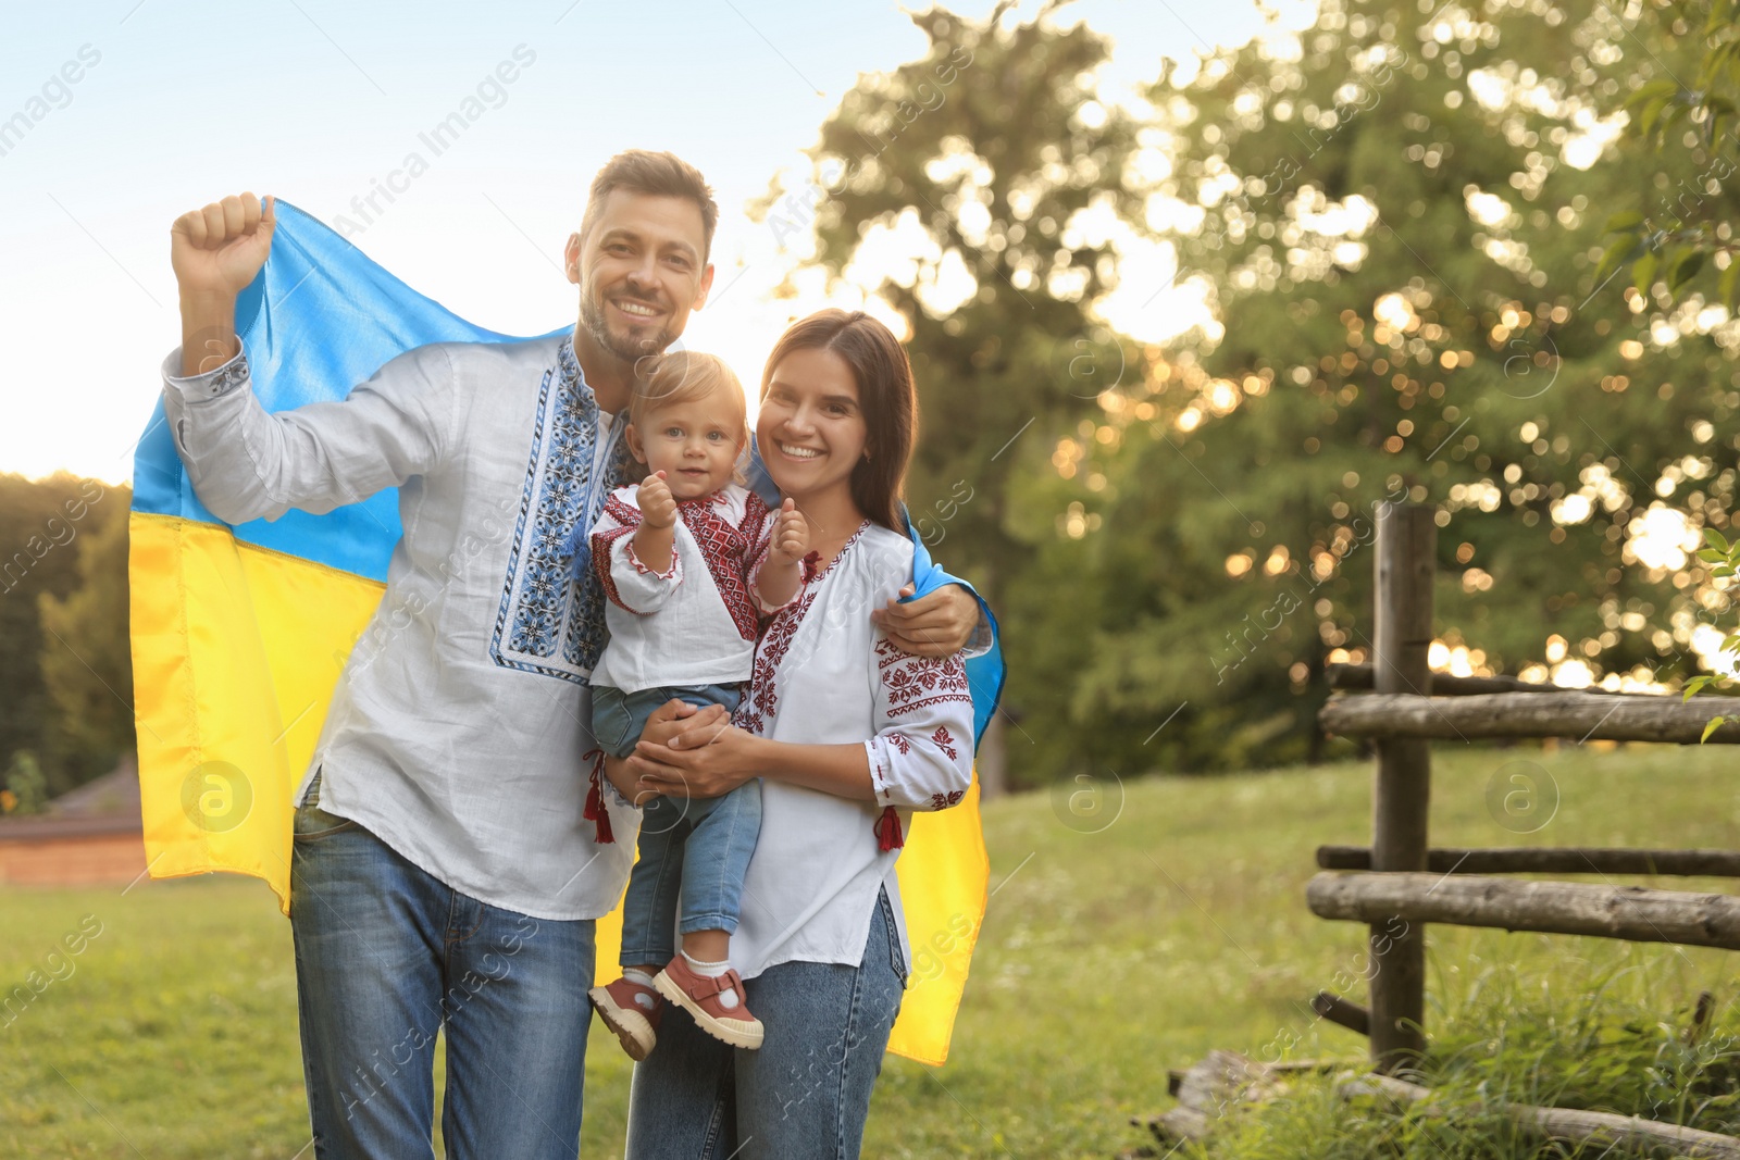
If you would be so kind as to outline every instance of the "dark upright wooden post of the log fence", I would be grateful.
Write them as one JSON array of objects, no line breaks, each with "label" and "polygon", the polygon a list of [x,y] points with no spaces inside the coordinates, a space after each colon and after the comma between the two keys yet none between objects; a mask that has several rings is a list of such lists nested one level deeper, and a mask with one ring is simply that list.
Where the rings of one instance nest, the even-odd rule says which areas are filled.
[{"label": "dark upright wooden post of the log fence", "polygon": [[[1378,692],[1430,690],[1432,572],[1437,523],[1432,508],[1387,503],[1378,511],[1376,633]],[[1371,795],[1371,868],[1427,868],[1427,807],[1432,755],[1418,737],[1380,737]],[[1373,922],[1371,1061],[1382,1071],[1409,1066],[1425,1050],[1425,929],[1418,922]]]}]

